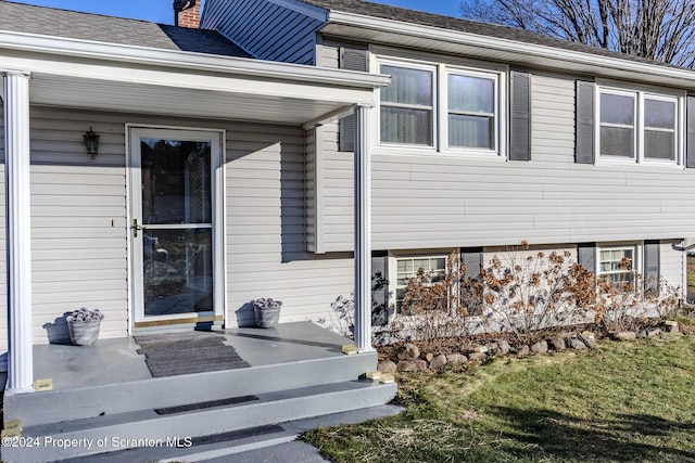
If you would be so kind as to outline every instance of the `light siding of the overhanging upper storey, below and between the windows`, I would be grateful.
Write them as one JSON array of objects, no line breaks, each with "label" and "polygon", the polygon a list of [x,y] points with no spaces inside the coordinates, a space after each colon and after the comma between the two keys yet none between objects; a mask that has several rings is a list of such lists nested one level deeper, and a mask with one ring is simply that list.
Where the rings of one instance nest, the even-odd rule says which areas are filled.
[{"label": "light siding of the overhanging upper storey, below and between the windows", "polygon": [[[574,163],[574,81],[534,74],[532,159],[372,153],[372,247],[427,249],[695,236],[695,169]],[[353,159],[325,141],[325,252],[353,246]],[[332,145],[331,145],[332,143]]]}]

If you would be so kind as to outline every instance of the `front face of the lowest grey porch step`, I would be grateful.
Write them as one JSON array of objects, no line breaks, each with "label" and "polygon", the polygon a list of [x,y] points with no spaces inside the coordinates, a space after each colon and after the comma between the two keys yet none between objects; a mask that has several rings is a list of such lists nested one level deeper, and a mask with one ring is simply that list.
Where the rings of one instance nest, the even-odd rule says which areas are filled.
[{"label": "front face of the lowest grey porch step", "polygon": [[[104,439],[103,447],[86,445],[70,448],[41,446],[33,449],[3,449],[7,462],[45,462],[71,459],[83,455],[118,451],[138,446],[138,439],[149,442],[166,442],[176,437],[186,439],[216,435],[250,427],[270,425],[330,415],[355,409],[368,409],[389,402],[396,393],[395,384],[374,384],[367,381],[353,381],[329,384],[296,390],[269,393],[261,402],[245,402],[230,409],[228,407],[184,412],[174,415],[149,415],[144,413],[137,421],[124,420],[122,423],[99,426],[91,423],[56,423],[25,427],[23,437],[38,437],[50,442],[71,441],[98,442]],[[233,410],[233,417],[229,411]],[[136,417],[136,416],[134,416]],[[114,443],[109,439],[116,437]],[[61,440],[62,439],[62,440]],[[81,440],[80,440],[81,439]],[[117,447],[114,447],[117,446]]]}]

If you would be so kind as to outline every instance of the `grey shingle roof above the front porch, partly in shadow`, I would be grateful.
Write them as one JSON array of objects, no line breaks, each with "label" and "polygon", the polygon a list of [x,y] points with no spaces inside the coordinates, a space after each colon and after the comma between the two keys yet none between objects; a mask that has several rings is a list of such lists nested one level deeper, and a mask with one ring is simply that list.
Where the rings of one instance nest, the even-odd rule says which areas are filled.
[{"label": "grey shingle roof above the front porch, partly in shadow", "polygon": [[[174,14],[172,10],[172,14]],[[216,30],[79,13],[0,0],[0,30],[163,50],[251,57]]]}]

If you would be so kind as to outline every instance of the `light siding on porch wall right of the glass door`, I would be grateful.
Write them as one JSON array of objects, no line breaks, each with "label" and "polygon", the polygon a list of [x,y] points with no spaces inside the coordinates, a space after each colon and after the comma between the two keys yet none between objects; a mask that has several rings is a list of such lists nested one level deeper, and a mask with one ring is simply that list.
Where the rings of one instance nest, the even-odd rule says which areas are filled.
[{"label": "light siding on porch wall right of the glass door", "polygon": [[230,325],[252,323],[249,304],[282,300],[280,322],[327,318],[353,288],[351,255],[305,252],[304,133],[236,124],[227,131],[227,306]]}]

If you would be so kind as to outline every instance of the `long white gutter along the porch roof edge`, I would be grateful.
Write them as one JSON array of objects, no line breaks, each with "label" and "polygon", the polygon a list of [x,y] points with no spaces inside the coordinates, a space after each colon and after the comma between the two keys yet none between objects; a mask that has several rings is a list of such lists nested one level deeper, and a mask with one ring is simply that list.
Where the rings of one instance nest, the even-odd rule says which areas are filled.
[{"label": "long white gutter along the porch roof edge", "polygon": [[390,81],[390,76],[380,74],[7,30],[0,30],[0,49],[355,89],[378,89]]}]

